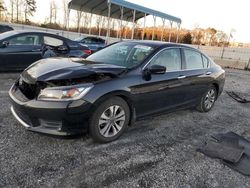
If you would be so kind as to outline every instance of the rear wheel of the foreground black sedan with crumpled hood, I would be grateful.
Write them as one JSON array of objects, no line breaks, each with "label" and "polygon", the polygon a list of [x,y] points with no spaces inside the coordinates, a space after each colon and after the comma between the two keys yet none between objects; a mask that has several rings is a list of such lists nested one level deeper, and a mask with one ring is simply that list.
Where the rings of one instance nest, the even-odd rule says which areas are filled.
[{"label": "rear wheel of the foreground black sedan with crumpled hood", "polygon": [[202,96],[199,105],[197,106],[197,110],[200,112],[210,111],[214,106],[217,95],[217,89],[214,86],[210,86]]}]

